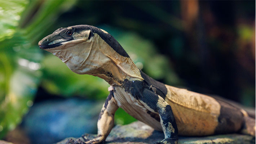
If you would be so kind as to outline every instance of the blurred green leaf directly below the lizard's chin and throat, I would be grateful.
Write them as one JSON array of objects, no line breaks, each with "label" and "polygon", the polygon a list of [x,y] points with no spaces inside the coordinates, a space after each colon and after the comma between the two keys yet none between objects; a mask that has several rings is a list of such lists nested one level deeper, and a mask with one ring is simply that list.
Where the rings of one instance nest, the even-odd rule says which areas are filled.
[{"label": "blurred green leaf directly below the lizard's chin and throat", "polygon": [[109,95],[109,84],[91,75],[78,75],[53,54],[48,54],[43,62],[42,86],[51,94],[82,96],[89,99],[105,99]]}]

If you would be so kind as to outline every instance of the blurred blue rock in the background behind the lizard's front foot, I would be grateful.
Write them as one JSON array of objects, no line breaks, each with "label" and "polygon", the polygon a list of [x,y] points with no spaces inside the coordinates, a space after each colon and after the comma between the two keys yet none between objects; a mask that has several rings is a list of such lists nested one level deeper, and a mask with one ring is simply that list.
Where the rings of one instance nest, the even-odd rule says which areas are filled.
[{"label": "blurred blue rock in the background behind the lizard's front foot", "polygon": [[103,103],[79,98],[35,103],[21,127],[33,144],[56,143],[69,136],[79,137],[85,132],[96,134]]}]

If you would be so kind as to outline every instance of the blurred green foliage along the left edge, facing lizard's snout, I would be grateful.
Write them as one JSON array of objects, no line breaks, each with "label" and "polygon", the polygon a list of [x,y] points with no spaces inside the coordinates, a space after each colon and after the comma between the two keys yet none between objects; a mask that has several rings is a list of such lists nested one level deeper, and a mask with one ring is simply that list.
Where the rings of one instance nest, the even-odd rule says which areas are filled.
[{"label": "blurred green foliage along the left edge, facing lizard's snout", "polygon": [[[0,28],[3,30],[0,36],[0,138],[21,122],[23,114],[33,105],[40,84],[43,55],[35,41],[46,26],[38,26],[44,17],[56,16],[56,12],[46,10],[31,18],[29,10],[34,9],[35,3],[40,1],[0,1]],[[55,10],[66,10],[66,6],[59,7],[65,1],[44,4],[46,8],[55,6],[58,7]],[[30,23],[21,27],[23,19],[30,19]],[[45,25],[50,26],[49,22]]]}]

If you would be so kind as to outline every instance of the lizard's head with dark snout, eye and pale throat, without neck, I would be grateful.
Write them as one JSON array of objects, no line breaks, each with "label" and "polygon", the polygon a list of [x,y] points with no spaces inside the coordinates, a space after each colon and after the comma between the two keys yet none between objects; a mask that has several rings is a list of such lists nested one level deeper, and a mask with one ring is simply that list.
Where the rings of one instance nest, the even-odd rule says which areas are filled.
[{"label": "lizard's head with dark snout, eye and pale throat, without neck", "polygon": [[74,72],[89,56],[93,44],[93,32],[88,27],[58,28],[38,42],[41,49],[56,55]]}]

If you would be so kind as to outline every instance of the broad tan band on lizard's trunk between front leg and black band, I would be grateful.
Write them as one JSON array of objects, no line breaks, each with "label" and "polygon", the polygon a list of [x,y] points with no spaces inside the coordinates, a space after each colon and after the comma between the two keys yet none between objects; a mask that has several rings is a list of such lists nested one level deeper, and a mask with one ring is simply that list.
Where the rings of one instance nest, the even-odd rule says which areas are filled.
[{"label": "broad tan band on lizard's trunk between front leg and black band", "polygon": [[180,135],[212,135],[218,125],[220,104],[212,97],[168,86],[165,101],[171,105]]}]

